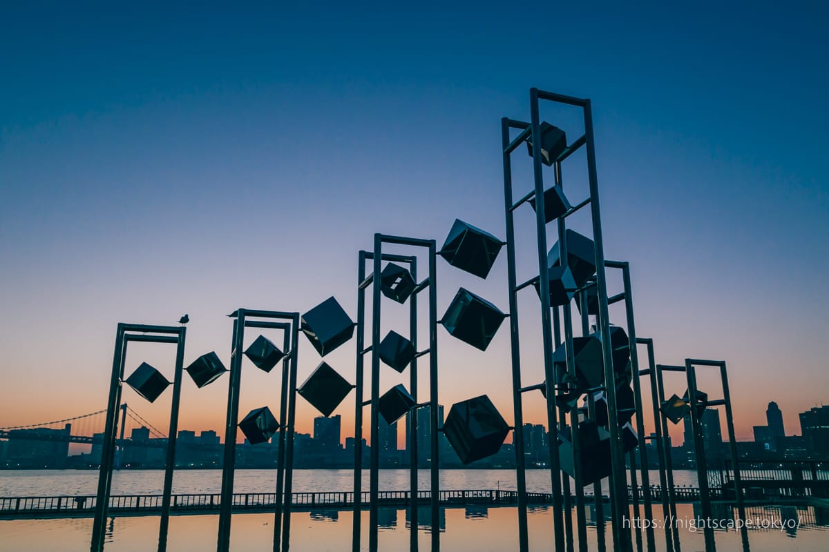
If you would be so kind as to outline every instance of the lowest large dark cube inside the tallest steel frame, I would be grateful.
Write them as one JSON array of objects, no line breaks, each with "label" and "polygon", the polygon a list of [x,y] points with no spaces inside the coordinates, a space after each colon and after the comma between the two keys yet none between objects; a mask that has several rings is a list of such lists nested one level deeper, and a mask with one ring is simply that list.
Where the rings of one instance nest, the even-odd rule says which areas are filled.
[{"label": "lowest large dark cube inside the tallest steel frame", "polygon": [[[610,434],[593,420],[579,423],[581,442],[581,481],[588,485],[610,475]],[[570,427],[559,431],[559,461],[561,469],[575,478],[575,457]]]}]

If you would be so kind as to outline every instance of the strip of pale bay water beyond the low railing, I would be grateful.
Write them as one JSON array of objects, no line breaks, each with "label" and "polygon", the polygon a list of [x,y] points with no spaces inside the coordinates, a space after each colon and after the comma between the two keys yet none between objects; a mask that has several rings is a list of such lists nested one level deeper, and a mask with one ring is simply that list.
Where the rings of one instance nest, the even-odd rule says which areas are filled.
[{"label": "strip of pale bay water beyond the low railing", "polygon": [[[298,469],[293,472],[294,492],[351,491],[351,470]],[[429,488],[429,470],[420,470],[418,484]],[[113,473],[112,494],[161,494],[164,473],[161,470],[120,470]],[[658,483],[657,472],[651,482]],[[674,482],[696,487],[696,473],[678,470]],[[93,470],[0,470],[0,497],[58,497],[94,495],[98,472]],[[275,470],[240,469],[234,478],[235,492],[271,492],[276,487]],[[508,469],[446,469],[440,471],[442,489],[514,490],[516,474]],[[550,491],[550,472],[530,470],[526,473],[530,492]],[[409,470],[384,469],[380,472],[381,491],[405,491],[409,488]],[[604,482],[607,494],[607,482]],[[368,471],[363,472],[363,489],[368,490]],[[586,489],[592,492],[592,487]],[[177,494],[221,492],[221,471],[216,469],[179,470],[174,473],[172,492]]]}]

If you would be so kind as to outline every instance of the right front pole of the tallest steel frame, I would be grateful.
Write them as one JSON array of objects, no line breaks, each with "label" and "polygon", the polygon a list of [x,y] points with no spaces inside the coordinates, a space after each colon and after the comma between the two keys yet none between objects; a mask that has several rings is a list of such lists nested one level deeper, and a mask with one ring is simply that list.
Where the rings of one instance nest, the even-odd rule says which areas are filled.
[{"label": "right front pole of the tallest steel frame", "polygon": [[[536,92],[537,94],[537,92]],[[596,147],[593,135],[593,110],[590,100],[584,100],[584,138],[587,147],[587,170],[590,187],[590,213],[593,219],[593,239],[596,252],[596,289],[599,294],[599,334],[602,339],[604,357],[604,379],[607,384],[608,423],[610,430],[611,463],[611,516],[613,518],[613,550],[630,550],[630,531],[624,530],[623,518],[627,516],[627,485],[624,473],[624,454],[619,439],[616,388],[613,386],[613,349],[610,345],[608,320],[608,286],[604,274],[604,242],[602,240],[602,218],[599,207],[599,177],[596,172]]]}]

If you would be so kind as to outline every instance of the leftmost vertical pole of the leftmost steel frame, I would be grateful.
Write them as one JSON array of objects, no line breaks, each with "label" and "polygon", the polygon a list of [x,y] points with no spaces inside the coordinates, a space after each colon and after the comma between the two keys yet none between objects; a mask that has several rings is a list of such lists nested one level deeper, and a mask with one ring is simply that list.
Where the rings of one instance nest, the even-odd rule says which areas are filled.
[{"label": "leftmost vertical pole of the leftmost steel frame", "polygon": [[101,448],[98,475],[98,495],[95,498],[95,519],[92,522],[91,552],[104,550],[104,524],[109,506],[109,486],[112,480],[112,463],[115,453],[115,433],[118,429],[118,408],[121,404],[121,377],[124,376],[124,324],[118,324],[115,331],[115,352],[112,360],[112,374],[109,378],[109,399],[107,401],[104,443]]}]

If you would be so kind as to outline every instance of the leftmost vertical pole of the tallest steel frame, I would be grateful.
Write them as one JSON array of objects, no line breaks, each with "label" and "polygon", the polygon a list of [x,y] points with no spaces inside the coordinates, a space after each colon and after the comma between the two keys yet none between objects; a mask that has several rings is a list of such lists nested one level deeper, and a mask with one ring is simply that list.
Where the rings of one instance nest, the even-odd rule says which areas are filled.
[{"label": "leftmost vertical pole of the tallest steel frame", "polygon": [[[518,550],[529,550],[526,513],[526,456],[524,451],[524,406],[521,397],[521,348],[518,338],[518,298],[516,296],[515,223],[512,215],[512,168],[509,119],[501,119],[501,142],[504,168],[504,212],[507,218],[507,282],[510,305],[510,351],[512,363],[512,415],[516,450],[516,491],[518,494]],[[550,434],[555,434],[552,428]],[[549,440],[549,439],[548,439]]]}]

